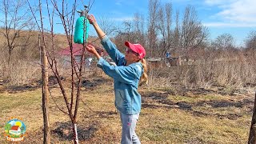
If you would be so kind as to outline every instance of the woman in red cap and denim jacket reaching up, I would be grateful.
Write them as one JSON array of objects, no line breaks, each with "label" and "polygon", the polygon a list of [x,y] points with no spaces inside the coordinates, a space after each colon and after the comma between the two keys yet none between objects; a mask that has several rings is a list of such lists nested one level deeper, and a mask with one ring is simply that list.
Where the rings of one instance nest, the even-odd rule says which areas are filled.
[{"label": "woman in red cap and denim jacket reaching up", "polygon": [[127,46],[126,54],[122,54],[110,38],[98,26],[94,15],[87,16],[90,24],[94,26],[102,46],[110,55],[117,66],[110,66],[104,60],[94,46],[88,45],[86,50],[98,58],[97,66],[114,78],[115,106],[120,112],[122,122],[122,144],[140,143],[135,133],[136,122],[141,110],[141,95],[138,94],[138,82],[147,82],[146,75],[146,55],[145,49],[140,44],[125,42]]}]

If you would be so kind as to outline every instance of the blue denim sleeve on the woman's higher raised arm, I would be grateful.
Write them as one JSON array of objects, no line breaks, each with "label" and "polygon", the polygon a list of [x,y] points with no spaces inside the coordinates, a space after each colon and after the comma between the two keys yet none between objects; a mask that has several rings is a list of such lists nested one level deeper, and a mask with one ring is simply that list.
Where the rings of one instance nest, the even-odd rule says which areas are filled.
[{"label": "blue denim sleeve on the woman's higher raised arm", "polygon": [[107,54],[110,55],[110,58],[117,64],[117,66],[122,66],[124,61],[124,54],[122,54],[118,49],[117,46],[113,42],[110,41],[110,38],[105,36],[102,39],[102,46],[106,50]]}]

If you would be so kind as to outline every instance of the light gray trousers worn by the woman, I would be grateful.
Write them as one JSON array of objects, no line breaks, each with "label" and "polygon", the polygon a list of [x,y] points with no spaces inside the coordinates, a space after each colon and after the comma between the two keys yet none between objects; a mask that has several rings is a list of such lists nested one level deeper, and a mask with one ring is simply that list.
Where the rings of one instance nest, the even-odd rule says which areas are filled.
[{"label": "light gray trousers worn by the woman", "polygon": [[139,114],[122,114],[120,118],[122,122],[122,144],[140,144],[137,134],[135,133],[136,123],[138,121]]}]

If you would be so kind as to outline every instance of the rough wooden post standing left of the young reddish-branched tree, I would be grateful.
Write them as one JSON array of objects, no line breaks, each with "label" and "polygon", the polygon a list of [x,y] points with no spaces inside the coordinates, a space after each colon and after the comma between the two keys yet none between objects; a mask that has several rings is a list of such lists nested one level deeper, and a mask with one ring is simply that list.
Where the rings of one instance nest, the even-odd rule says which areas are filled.
[{"label": "rough wooden post standing left of the young reddish-branched tree", "polygon": [[42,47],[42,114],[43,114],[43,143],[50,144],[49,126],[49,89],[48,89],[48,63],[46,48]]}]

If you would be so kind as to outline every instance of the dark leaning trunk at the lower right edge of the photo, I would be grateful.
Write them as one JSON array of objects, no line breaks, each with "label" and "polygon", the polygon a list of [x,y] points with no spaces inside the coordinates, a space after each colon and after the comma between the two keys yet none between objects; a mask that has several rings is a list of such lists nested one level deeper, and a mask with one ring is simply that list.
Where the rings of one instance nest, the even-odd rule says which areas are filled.
[{"label": "dark leaning trunk at the lower right edge of the photo", "polygon": [[255,98],[254,98],[254,113],[253,113],[253,118],[251,120],[250,124],[250,134],[249,134],[249,139],[248,139],[248,144],[256,144],[256,92],[255,92]]}]

